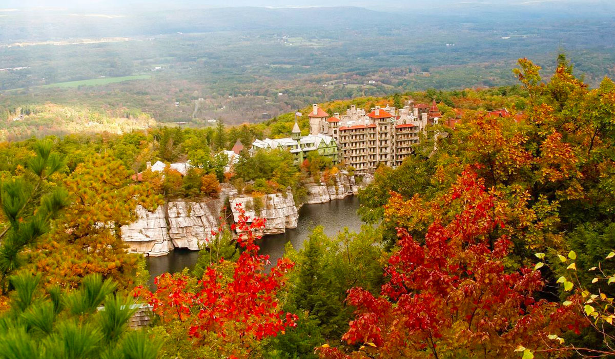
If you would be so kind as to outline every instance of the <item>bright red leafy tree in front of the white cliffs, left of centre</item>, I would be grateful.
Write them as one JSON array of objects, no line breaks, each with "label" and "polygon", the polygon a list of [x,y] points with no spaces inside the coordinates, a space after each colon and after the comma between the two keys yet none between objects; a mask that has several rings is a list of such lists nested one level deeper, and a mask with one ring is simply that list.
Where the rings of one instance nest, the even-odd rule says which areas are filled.
[{"label": "bright red leafy tree in front of the white cliffs, left of centre", "polygon": [[280,259],[265,273],[268,256],[259,255],[254,243],[259,238],[254,233],[264,227],[264,219],[248,223],[243,209],[238,210],[237,241],[245,250],[232,264],[231,278],[220,269],[225,264],[221,260],[221,265],[208,267],[197,283],[189,283],[189,278],[180,274],[163,274],[156,278],[156,292],[138,293],[163,320],[185,320],[188,336],[195,339],[215,333],[228,341],[238,339],[236,336],[260,341],[295,326],[296,316],[279,310],[277,299],[294,264]]}]

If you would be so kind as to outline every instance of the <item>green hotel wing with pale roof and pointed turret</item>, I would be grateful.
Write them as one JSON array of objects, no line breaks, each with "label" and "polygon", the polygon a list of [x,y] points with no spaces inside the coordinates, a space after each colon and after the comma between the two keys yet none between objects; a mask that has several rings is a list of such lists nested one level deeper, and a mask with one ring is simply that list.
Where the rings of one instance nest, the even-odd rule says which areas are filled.
[{"label": "green hotel wing with pale roof and pointed turret", "polygon": [[319,133],[302,136],[301,129],[296,122],[291,137],[255,140],[249,153],[250,156],[253,156],[258,150],[271,150],[274,148],[290,151],[297,164],[302,163],[311,151],[317,151],[320,156],[331,158],[333,164],[338,163],[338,143],[333,137]]}]

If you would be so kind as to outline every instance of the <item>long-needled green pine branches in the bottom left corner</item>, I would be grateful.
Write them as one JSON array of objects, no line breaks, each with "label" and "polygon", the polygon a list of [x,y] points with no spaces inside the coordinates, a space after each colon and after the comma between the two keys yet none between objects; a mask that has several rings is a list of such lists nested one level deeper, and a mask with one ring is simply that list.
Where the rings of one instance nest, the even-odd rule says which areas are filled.
[{"label": "long-needled green pine branches in the bottom left corner", "polygon": [[0,319],[0,358],[157,357],[159,342],[143,331],[129,333],[127,323],[136,307],[128,297],[110,294],[117,283],[86,276],[81,288],[64,296],[66,310],[57,310],[55,289],[55,294],[34,293],[39,280],[40,275],[28,273],[11,277],[15,300]]}]

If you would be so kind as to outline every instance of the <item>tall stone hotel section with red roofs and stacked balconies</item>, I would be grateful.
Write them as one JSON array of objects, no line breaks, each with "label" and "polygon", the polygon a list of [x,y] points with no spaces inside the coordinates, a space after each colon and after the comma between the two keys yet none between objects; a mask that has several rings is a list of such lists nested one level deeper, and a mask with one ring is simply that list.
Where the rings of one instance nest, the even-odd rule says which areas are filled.
[{"label": "tall stone hotel section with red roofs and stacked balconies", "polygon": [[356,171],[375,169],[378,164],[399,166],[414,152],[419,133],[442,115],[435,101],[431,107],[409,101],[399,110],[376,106],[366,113],[352,105],[346,115],[329,117],[318,105],[309,113],[311,134],[330,135],[339,147],[339,160]]}]

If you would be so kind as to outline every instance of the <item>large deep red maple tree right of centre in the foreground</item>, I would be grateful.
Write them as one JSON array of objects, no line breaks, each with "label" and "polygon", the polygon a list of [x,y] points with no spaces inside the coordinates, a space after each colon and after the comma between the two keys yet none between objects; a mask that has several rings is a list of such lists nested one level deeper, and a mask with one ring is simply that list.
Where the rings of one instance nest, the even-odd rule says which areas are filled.
[{"label": "large deep red maple tree right of centre in the foreground", "polygon": [[[544,287],[531,268],[506,268],[512,243],[494,237],[506,218],[483,180],[466,169],[424,211],[433,222],[424,241],[398,229],[399,249],[386,268],[379,296],[349,291],[355,320],[343,340],[352,353],[323,345],[327,358],[520,357],[545,347],[548,335],[577,329],[573,309],[536,299]],[[400,211],[403,209],[400,208]]]}]

